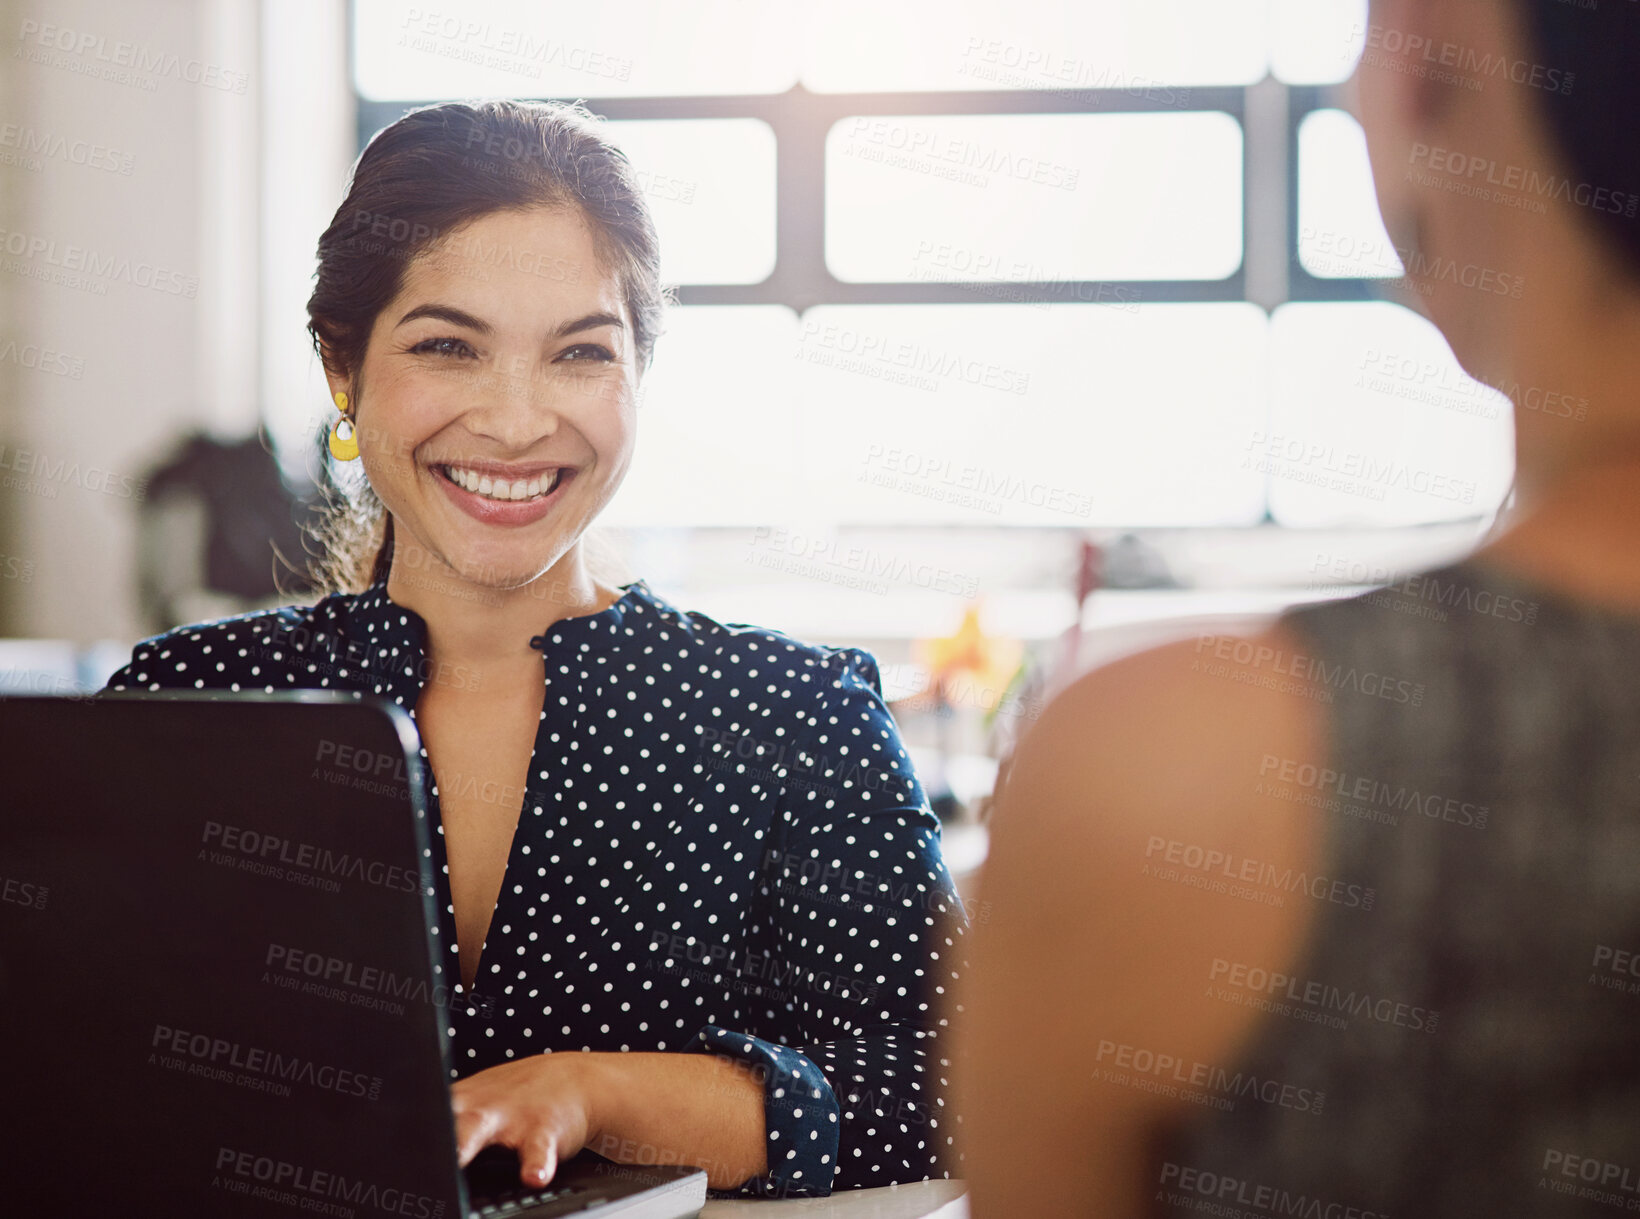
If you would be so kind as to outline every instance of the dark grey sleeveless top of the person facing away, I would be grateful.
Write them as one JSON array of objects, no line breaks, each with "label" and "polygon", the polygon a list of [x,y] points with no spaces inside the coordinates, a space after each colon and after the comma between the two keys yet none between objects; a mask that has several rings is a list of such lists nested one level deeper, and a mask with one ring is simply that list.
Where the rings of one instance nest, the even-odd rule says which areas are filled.
[{"label": "dark grey sleeveless top of the person facing away", "polygon": [[[1155,1214],[1640,1211],[1640,614],[1474,561],[1289,612],[1327,704],[1296,963],[1156,1144]],[[1348,893],[1348,888],[1338,889]]]}]

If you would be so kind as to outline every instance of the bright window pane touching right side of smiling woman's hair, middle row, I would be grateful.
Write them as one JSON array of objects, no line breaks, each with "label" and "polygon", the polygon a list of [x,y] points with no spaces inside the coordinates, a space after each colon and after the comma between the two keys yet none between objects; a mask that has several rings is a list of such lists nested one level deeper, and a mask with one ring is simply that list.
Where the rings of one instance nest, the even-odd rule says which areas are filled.
[{"label": "bright window pane touching right side of smiling woman's hair, middle row", "polygon": [[638,171],[667,284],[756,284],[774,271],[774,131],[756,118],[610,123]]}]

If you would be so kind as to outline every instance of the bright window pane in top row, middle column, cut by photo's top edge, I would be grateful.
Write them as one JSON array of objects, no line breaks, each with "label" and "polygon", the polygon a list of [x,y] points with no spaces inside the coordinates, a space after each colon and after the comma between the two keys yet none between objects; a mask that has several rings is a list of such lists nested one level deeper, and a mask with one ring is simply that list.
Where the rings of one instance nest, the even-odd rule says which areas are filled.
[{"label": "bright window pane in top row, middle column, cut by photo's top edge", "polygon": [[805,8],[802,77],[833,94],[1251,84],[1268,67],[1266,3],[827,0]]}]

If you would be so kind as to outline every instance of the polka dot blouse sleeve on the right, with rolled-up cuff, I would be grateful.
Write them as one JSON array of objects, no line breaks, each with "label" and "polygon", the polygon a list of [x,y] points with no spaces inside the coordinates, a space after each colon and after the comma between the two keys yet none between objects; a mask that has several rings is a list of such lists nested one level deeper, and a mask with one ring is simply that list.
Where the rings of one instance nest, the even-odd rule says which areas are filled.
[{"label": "polka dot blouse sleeve on the right, with rolled-up cuff", "polygon": [[876,661],[838,650],[828,676],[763,858],[763,956],[741,966],[787,996],[786,1027],[707,1025],[690,1047],[764,1081],[769,1171],[741,1186],[758,1196],[950,1176],[954,1160],[941,1007],[963,909]]}]

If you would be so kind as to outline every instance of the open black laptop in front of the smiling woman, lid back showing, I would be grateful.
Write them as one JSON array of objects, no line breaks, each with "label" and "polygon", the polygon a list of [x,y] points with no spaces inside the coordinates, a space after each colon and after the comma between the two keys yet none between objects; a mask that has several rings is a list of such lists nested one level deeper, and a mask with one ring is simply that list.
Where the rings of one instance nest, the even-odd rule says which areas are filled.
[{"label": "open black laptop in front of the smiling woman, lid back showing", "polygon": [[462,1170],[403,710],[0,697],[0,1209],[681,1219],[692,1166]]}]

